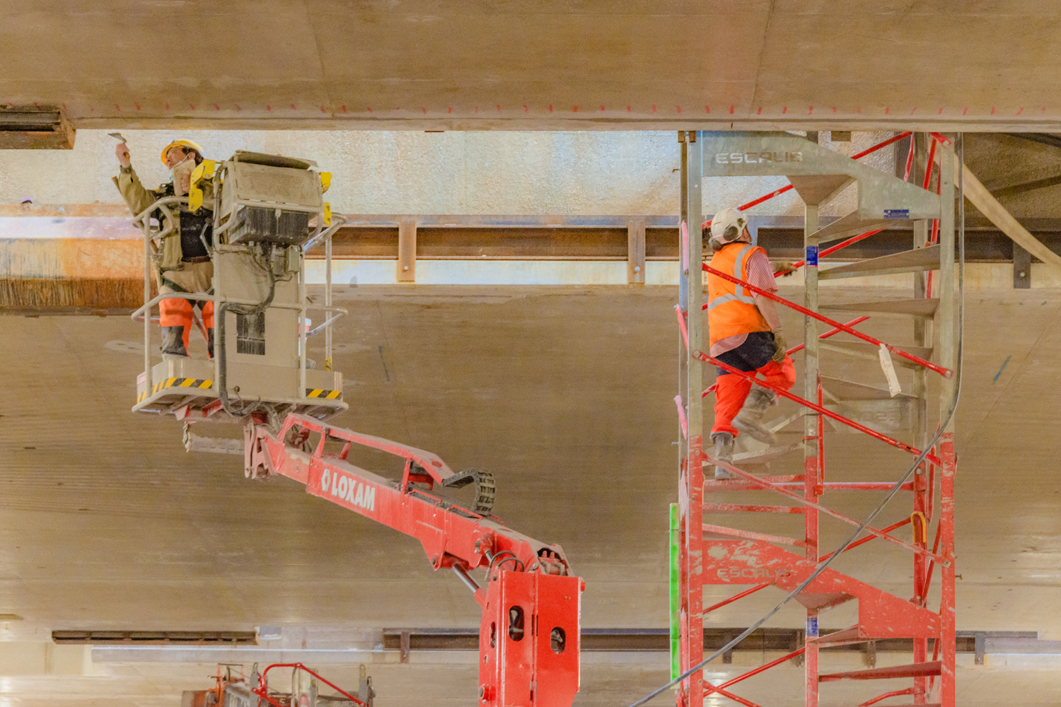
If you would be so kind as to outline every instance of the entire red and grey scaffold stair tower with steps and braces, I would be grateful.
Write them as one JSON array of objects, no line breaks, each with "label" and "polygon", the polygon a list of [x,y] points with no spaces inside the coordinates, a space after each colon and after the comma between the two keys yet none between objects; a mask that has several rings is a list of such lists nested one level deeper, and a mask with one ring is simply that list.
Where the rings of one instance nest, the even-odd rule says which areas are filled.
[{"label": "entire red and grey scaffold stair tower with steps and braces", "polygon": [[[784,132],[689,132],[679,134],[682,166],[682,231],[680,300],[676,307],[681,333],[679,347],[679,395],[676,397],[681,422],[679,453],[679,502],[672,513],[676,531],[673,554],[676,567],[672,578],[677,591],[672,590],[672,661],[673,677],[695,669],[703,659],[703,618],[707,614],[730,606],[751,594],[777,587],[792,593],[819,569],[831,553],[819,538],[819,518],[831,516],[859,526],[857,520],[824,505],[838,492],[870,492],[880,496],[891,490],[895,481],[854,481],[845,478],[843,470],[825,474],[825,425],[854,429],[882,443],[921,456],[925,444],[936,439],[936,446],[923,455],[924,461],[910,480],[902,484],[909,499],[910,514],[903,520],[876,529],[867,527],[866,534],[851,543],[847,550],[872,552],[882,542],[904,548],[911,555],[912,589],[909,597],[898,597],[831,568],[821,571],[803,587],[795,599],[806,614],[803,646],[792,653],[766,662],[720,685],[708,683],[702,670],[693,671],[678,685],[677,703],[684,707],[700,707],[705,696],[713,694],[759,707],[735,694],[731,688],[783,662],[801,657],[805,668],[805,704],[817,707],[818,690],[823,683],[841,679],[871,681],[909,678],[905,689],[883,694],[867,690],[860,704],[871,705],[888,697],[908,695],[915,705],[955,705],[955,604],[954,604],[954,455],[953,426],[941,431],[928,416],[928,376],[938,375],[940,412],[938,423],[947,419],[954,400],[955,369],[955,253],[954,253],[954,161],[950,141],[938,134],[910,136],[910,162],[917,154],[925,165],[923,183],[914,184],[884,174],[856,161],[910,134],[895,136],[869,151],[849,158],[827,149],[817,141]],[[810,136],[808,136],[810,137]],[[925,153],[928,153],[925,159]],[[938,173],[934,164],[939,158]],[[938,185],[929,189],[932,177],[938,174]],[[749,208],[795,189],[804,201],[805,259],[797,263],[804,272],[802,305],[783,300],[770,293],[758,290],[746,282],[711,270],[702,264],[703,242],[701,220],[701,179],[705,176],[785,176],[790,185],[777,190],[762,199],[745,205]],[[851,184],[856,184],[857,207],[847,216],[824,226],[818,208],[836,197]],[[846,265],[818,268],[818,259],[850,243],[868,237],[882,228],[901,223],[914,227],[911,250]],[[693,225],[688,228],[686,224]],[[940,238],[943,234],[945,237]],[[849,237],[851,236],[851,237]],[[819,252],[819,245],[841,241]],[[741,283],[756,295],[764,295],[784,306],[796,310],[804,319],[804,343],[789,354],[802,350],[803,394],[775,389],[795,402],[803,411],[803,438],[798,445],[804,454],[803,473],[787,476],[756,476],[741,469],[746,462],[762,462],[783,454],[786,448],[750,450],[734,456],[734,464],[721,465],[737,478],[705,480],[705,469],[715,461],[705,452],[703,400],[712,388],[705,390],[703,365],[727,369],[731,374],[751,378],[756,385],[770,386],[756,379],[754,373],[743,373],[703,353],[707,350],[703,304],[703,272]],[[939,271],[933,297],[934,270]],[[818,281],[875,275],[915,273],[914,297],[890,301],[853,302],[819,305]],[[910,346],[891,346],[855,326],[869,319],[860,316],[846,323],[821,314],[821,310],[852,313],[864,311],[873,316],[902,315],[914,320],[914,341]],[[850,315],[848,315],[850,316]],[[822,324],[828,331],[822,331]],[[837,334],[854,336],[857,341],[824,341]],[[892,368],[892,356],[900,365],[912,369],[909,393],[898,393],[856,382],[823,376],[819,349],[842,355],[879,358],[885,373]],[[893,369],[889,378],[895,381]],[[796,416],[782,423],[795,422]],[[782,424],[779,423],[779,424]],[[939,432],[930,435],[936,428]],[[906,436],[909,442],[899,439]],[[937,439],[938,437],[938,439]],[[795,445],[794,445],[795,446]],[[911,458],[911,463],[914,461]],[[897,478],[907,469],[897,470]],[[835,474],[835,476],[834,476]],[[706,494],[759,493],[750,502],[706,501]],[[770,506],[762,494],[775,499],[783,497],[785,505]],[[803,515],[802,537],[784,537],[763,532],[729,528],[705,523],[703,515],[731,513],[783,513]],[[894,533],[904,526],[912,527],[911,542]],[[933,533],[933,525],[935,531]],[[929,543],[929,535],[934,535]],[[674,561],[673,561],[674,562]],[[941,587],[938,605],[929,605],[933,577],[939,573]],[[732,585],[740,588],[724,601],[703,607],[706,585]],[[750,585],[750,586],[749,586]],[[818,629],[818,616],[849,601],[857,602],[854,625],[833,632]],[[908,665],[845,672],[822,672],[819,665],[821,649],[876,639],[906,638],[912,640],[912,661]],[[905,704],[905,703],[904,703]]]}]

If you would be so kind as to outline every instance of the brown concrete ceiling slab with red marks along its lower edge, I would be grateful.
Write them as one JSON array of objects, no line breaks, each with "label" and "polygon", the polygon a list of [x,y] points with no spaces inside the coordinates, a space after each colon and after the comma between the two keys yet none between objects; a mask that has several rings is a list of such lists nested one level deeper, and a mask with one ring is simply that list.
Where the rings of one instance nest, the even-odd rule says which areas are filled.
[{"label": "brown concrete ceiling slab with red marks along its lower edge", "polygon": [[0,47],[76,127],[1061,130],[1033,0],[20,0]]}]

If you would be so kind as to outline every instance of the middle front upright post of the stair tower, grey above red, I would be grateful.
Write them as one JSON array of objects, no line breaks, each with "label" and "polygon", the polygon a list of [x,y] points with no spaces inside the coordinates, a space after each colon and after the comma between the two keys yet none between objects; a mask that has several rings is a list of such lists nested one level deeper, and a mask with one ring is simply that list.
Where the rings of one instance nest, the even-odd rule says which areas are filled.
[{"label": "middle front upright post of the stair tower, grey above red", "polygon": [[[803,207],[803,267],[804,295],[803,306],[812,312],[818,311],[818,205],[807,204]],[[818,321],[803,317],[803,397],[818,397]],[[804,497],[817,501],[817,481],[821,471],[818,469],[818,416],[810,411],[803,417],[803,475]],[[818,561],[818,511],[804,509],[806,513],[806,559]],[[811,640],[818,636],[818,611],[806,609],[806,652],[804,667],[805,704],[806,707],[818,707],[818,643]]]}]

